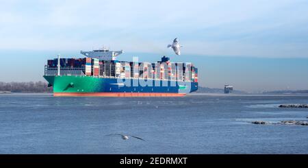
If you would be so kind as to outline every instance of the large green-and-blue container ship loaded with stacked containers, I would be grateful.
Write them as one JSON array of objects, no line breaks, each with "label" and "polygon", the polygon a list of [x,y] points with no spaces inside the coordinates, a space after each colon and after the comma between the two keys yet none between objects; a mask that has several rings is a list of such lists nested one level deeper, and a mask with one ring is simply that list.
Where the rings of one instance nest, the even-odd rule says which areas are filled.
[{"label": "large green-and-blue container ship loaded with stacked containers", "polygon": [[179,97],[198,89],[198,69],[189,62],[119,61],[123,51],[81,51],[84,58],[47,60],[44,79],[53,96]]}]

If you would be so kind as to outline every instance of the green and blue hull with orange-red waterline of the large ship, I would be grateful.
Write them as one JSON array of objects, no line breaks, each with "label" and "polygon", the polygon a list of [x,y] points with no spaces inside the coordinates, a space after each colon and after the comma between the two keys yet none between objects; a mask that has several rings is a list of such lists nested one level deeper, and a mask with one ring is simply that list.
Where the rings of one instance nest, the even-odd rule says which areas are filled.
[{"label": "green and blue hull with orange-red waterline of the large ship", "polygon": [[53,86],[55,96],[183,96],[198,89],[197,82],[148,80],[144,86],[138,79],[119,82],[116,78],[86,75],[44,75],[44,78]]}]

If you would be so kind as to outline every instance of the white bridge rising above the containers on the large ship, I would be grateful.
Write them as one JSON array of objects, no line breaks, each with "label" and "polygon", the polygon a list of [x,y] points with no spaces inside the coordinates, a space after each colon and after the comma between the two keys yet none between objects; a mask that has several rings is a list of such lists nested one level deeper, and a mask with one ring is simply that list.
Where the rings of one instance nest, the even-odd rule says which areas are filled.
[{"label": "white bridge rising above the containers on the large ship", "polygon": [[110,51],[109,49],[97,49],[93,51],[80,51],[80,53],[88,58],[97,58],[99,60],[116,60],[116,56],[124,53],[120,51]]}]

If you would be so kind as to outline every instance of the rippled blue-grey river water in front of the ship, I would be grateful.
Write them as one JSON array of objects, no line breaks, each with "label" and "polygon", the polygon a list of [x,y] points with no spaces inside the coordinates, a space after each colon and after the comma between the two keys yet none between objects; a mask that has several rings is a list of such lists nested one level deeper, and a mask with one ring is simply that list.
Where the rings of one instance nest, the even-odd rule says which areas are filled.
[{"label": "rippled blue-grey river water in front of the ship", "polygon": [[[52,97],[0,95],[1,154],[308,154],[298,95]],[[124,141],[131,134],[139,139]]]}]

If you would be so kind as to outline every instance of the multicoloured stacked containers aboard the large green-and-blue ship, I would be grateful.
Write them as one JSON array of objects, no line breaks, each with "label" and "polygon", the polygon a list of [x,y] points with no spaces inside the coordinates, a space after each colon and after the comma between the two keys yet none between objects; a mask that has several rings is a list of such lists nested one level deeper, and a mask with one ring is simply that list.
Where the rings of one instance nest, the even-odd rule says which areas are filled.
[{"label": "multicoloured stacked containers aboard the large green-and-blue ship", "polygon": [[[61,69],[83,71],[85,75],[120,77],[120,78],[145,78],[155,80],[178,80],[198,82],[198,69],[192,64],[170,62],[163,57],[157,63],[148,62],[118,62],[105,61],[96,58],[60,58]],[[56,72],[57,58],[47,60],[47,71]],[[70,72],[71,73],[71,72]],[[50,73],[53,74],[53,73]],[[62,73],[68,75],[68,73]],[[73,73],[72,73],[73,74]],[[75,73],[83,74],[83,73]]]}]

